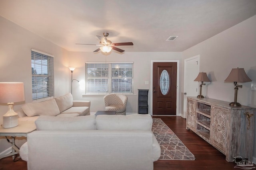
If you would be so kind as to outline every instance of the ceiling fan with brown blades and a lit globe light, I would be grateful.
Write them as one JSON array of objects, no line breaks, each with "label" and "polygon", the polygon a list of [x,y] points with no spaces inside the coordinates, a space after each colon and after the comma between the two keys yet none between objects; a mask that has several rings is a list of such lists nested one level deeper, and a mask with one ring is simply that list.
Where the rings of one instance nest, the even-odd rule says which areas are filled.
[{"label": "ceiling fan with brown blades and a lit globe light", "polygon": [[[133,45],[132,42],[127,43],[112,43],[110,40],[107,39],[108,33],[103,33],[104,37],[96,35],[96,37],[100,40],[100,44],[97,46],[101,46],[100,48],[96,49],[94,52],[102,51],[104,53],[109,53],[112,49],[119,51],[120,53],[124,52],[124,50],[119,49],[115,46],[122,46],[122,45]],[[79,43],[76,43],[79,44]],[[80,44],[80,45],[96,45],[96,44]]]}]

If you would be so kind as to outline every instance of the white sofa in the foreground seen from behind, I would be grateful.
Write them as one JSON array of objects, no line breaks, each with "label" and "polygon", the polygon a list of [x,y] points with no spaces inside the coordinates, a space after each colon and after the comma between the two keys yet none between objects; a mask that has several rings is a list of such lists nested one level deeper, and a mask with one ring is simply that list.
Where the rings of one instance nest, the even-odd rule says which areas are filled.
[{"label": "white sofa in the foreground seen from behind", "polygon": [[40,116],[20,156],[28,170],[153,170],[160,145],[150,115]]}]

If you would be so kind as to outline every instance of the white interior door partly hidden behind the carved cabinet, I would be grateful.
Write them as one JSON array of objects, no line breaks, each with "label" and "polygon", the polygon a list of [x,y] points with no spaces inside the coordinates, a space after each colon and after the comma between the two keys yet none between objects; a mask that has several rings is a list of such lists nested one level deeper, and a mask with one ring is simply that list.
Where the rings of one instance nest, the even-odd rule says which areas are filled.
[{"label": "white interior door partly hidden behind the carved cabinet", "polygon": [[195,78],[199,72],[200,56],[196,55],[184,60],[184,101],[183,101],[183,116],[186,118],[187,114],[187,96],[198,95],[198,82]]}]

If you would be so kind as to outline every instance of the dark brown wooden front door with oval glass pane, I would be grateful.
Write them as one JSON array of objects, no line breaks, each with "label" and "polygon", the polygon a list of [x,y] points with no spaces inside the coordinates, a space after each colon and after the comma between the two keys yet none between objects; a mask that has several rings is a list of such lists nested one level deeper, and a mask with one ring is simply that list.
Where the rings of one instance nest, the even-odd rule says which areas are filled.
[{"label": "dark brown wooden front door with oval glass pane", "polygon": [[177,63],[153,63],[153,115],[176,115]]}]

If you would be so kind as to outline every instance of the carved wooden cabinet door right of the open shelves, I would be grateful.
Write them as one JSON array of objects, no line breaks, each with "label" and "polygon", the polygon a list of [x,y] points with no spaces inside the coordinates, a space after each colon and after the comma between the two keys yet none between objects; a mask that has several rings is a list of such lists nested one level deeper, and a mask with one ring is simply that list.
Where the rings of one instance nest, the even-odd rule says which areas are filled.
[{"label": "carved wooden cabinet door right of the open shelves", "polygon": [[223,154],[226,154],[227,113],[226,109],[215,107],[212,115],[211,145]]}]

